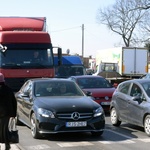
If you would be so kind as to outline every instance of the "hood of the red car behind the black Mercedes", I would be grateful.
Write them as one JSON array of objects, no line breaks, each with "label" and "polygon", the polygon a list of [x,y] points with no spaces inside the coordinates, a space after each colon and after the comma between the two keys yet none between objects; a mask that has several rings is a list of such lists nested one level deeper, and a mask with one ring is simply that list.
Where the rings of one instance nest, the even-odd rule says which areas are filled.
[{"label": "hood of the red car behind the black Mercedes", "polygon": [[82,89],[84,92],[89,91],[92,92],[92,96],[94,97],[103,97],[103,96],[109,96],[111,97],[112,94],[115,91],[115,88],[88,88],[88,89]]}]

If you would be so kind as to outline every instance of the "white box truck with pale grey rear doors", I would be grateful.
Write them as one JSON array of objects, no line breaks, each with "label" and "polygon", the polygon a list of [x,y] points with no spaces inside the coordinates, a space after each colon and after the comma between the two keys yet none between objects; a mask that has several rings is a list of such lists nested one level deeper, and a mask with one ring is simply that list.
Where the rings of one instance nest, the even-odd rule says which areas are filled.
[{"label": "white box truck with pale grey rear doors", "polygon": [[97,71],[111,82],[140,78],[148,72],[148,50],[140,47],[117,47],[96,53]]}]

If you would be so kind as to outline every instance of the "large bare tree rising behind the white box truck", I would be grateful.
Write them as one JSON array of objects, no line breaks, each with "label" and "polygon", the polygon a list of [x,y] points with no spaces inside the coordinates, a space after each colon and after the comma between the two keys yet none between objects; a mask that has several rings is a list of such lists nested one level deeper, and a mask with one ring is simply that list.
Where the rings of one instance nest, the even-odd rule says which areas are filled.
[{"label": "large bare tree rising behind the white box truck", "polygon": [[145,15],[143,9],[135,9],[141,5],[141,0],[116,0],[110,7],[99,9],[97,20],[110,30],[119,34],[126,47],[135,41],[135,29]]}]

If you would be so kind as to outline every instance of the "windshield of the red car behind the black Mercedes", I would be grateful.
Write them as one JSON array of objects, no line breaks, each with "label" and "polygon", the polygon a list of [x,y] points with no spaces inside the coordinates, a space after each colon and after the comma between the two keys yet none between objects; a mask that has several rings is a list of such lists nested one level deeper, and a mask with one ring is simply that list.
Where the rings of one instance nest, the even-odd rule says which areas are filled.
[{"label": "windshield of the red car behind the black Mercedes", "polygon": [[77,80],[82,89],[85,88],[112,88],[112,85],[104,78],[79,78]]}]

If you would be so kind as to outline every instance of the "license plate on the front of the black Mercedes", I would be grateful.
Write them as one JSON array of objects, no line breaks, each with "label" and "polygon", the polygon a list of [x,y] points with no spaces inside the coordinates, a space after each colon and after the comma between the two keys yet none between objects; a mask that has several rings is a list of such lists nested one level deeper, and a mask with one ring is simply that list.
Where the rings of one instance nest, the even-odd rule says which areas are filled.
[{"label": "license plate on the front of the black Mercedes", "polygon": [[66,122],[66,127],[86,127],[86,121]]}]

